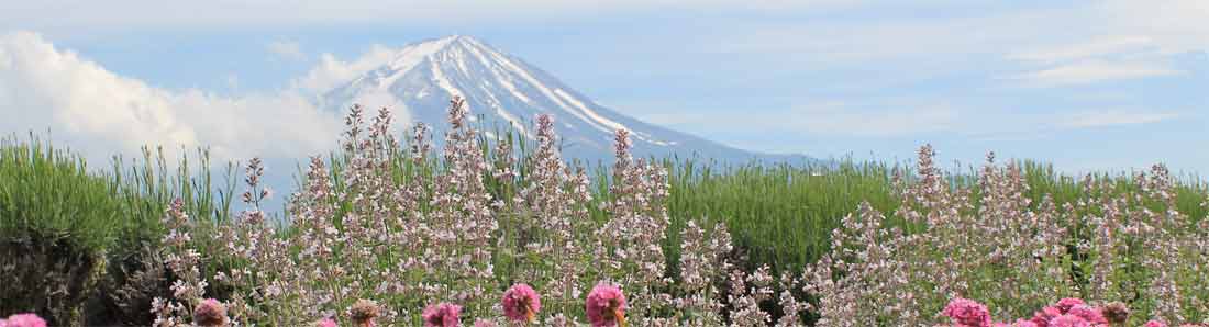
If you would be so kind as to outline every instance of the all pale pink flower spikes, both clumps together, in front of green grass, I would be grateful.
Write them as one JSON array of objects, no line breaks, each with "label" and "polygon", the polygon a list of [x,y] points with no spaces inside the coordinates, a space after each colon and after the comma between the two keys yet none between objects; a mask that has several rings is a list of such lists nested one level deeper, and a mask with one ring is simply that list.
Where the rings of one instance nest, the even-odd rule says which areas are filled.
[{"label": "all pale pink flower spikes, both clumps together, in front of green grass", "polygon": [[[491,146],[469,124],[461,99],[451,101],[439,157],[423,124],[404,147],[387,109],[369,123],[364,115],[348,115],[337,156],[310,159],[280,223],[260,208],[272,192],[260,183],[258,159],[244,171],[247,209],[231,222],[199,229],[179,203],[168,208],[164,263],[177,280],[170,298],[152,303],[156,326],[1209,319],[1209,274],[1198,270],[1209,264],[1209,222],[1174,210],[1162,167],[1135,179],[1136,193],[1109,197],[1118,194],[1105,191],[1111,185],[1089,179],[1078,202],[1034,203],[1017,165],[991,159],[974,187],[956,187],[925,147],[919,173],[896,179],[896,211],[858,206],[832,230],[818,262],[777,275],[736,262],[742,251],[724,224],[689,220],[672,229],[667,173],[631,157],[626,130],[615,134],[607,192],[594,199],[585,170],[561,158],[549,116],[537,121],[532,156],[517,162],[514,144]],[[411,169],[426,165],[439,169]],[[672,233],[678,257],[664,247]],[[207,299],[214,290],[230,296]],[[1062,297],[1070,299],[1055,302]],[[1075,297],[1128,303],[1093,308]]]}]

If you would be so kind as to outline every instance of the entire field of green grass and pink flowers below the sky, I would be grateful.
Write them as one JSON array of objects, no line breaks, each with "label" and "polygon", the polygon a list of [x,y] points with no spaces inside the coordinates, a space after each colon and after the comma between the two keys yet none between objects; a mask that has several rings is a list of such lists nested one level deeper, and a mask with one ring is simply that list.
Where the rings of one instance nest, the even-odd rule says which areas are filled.
[{"label": "entire field of green grass and pink flowers below the sky", "polygon": [[[6,144],[0,314],[56,326],[1209,325],[1209,193],[1162,165],[1071,179],[990,154],[954,174],[924,146],[910,169],[715,168],[634,158],[618,130],[613,164],[590,168],[561,157],[549,116],[536,144],[487,140],[469,117],[451,101],[436,150],[423,124],[399,140],[388,110],[354,107],[342,148],[310,158],[288,193],[265,186],[276,173],[259,159],[232,192],[150,154],[89,175],[69,154]],[[265,208],[274,197],[279,215]],[[81,255],[11,255],[25,249]],[[35,287],[52,278],[71,287]]]}]

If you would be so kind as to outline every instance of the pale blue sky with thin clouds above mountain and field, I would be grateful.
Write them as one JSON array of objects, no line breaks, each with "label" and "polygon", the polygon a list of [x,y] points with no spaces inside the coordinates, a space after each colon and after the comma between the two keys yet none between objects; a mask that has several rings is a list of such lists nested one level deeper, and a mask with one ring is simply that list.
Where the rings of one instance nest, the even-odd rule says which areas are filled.
[{"label": "pale blue sky with thin clouds above mountain and field", "polygon": [[[620,112],[741,148],[904,159],[931,142],[965,163],[996,151],[1066,171],[1209,171],[1205,1],[33,2],[0,4],[0,113],[17,117],[0,132],[62,129],[85,148],[174,140],[241,157],[280,147],[273,135],[320,148],[291,133],[329,130],[322,113],[248,123],[251,138],[206,119],[293,117],[322,58],[462,34]],[[44,72],[64,65],[100,72]],[[137,92],[46,89],[106,78]],[[132,133],[81,113],[131,103],[147,105],[118,117],[155,123]]]}]

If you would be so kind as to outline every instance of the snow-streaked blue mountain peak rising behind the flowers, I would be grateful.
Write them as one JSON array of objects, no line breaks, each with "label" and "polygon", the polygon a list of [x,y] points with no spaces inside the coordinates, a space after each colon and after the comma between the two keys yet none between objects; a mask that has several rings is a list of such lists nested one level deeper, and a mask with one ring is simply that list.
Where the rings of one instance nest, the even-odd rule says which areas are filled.
[{"label": "snow-streaked blue mountain peak rising behind the flowers", "polygon": [[566,158],[600,160],[613,153],[613,133],[630,130],[634,154],[698,156],[723,162],[752,159],[809,160],[744,151],[621,115],[563,84],[520,58],[469,36],[447,36],[412,43],[398,56],[322,95],[323,106],[345,110],[352,104],[392,106],[407,119],[433,127],[434,135],[449,128],[445,110],[453,95],[467,99],[481,129],[514,128],[534,138],[537,115],[554,117]]}]

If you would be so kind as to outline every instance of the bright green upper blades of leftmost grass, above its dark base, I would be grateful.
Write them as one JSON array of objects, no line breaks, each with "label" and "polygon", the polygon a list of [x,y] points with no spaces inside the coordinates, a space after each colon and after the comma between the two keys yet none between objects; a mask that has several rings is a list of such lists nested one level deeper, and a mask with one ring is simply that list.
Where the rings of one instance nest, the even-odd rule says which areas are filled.
[{"label": "bright green upper blades of leftmost grass, above its dark base", "polygon": [[[131,239],[155,239],[160,218],[175,198],[190,212],[225,220],[235,180],[215,188],[209,156],[169,164],[162,151],[144,148],[108,169],[89,167],[70,148],[30,136],[0,140],[0,235],[63,239],[88,251],[115,250]],[[230,175],[230,174],[227,174]]]}]

